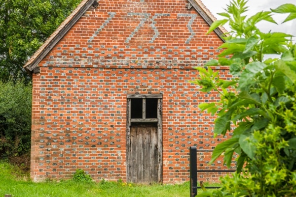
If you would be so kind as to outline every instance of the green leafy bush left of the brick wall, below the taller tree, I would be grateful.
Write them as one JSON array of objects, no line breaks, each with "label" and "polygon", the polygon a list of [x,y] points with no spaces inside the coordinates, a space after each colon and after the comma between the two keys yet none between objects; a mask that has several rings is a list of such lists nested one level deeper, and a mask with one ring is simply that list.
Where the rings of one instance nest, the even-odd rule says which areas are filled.
[{"label": "green leafy bush left of the brick wall, below the taller tree", "polygon": [[32,85],[0,82],[0,158],[27,153],[31,147]]}]

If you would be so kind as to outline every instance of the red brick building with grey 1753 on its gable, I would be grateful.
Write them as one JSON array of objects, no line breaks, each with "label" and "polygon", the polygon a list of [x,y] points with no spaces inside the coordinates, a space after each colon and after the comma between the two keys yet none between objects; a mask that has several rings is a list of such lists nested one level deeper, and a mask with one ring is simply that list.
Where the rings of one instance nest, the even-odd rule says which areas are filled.
[{"label": "red brick building with grey 1753 on its gable", "polygon": [[189,82],[219,54],[224,29],[206,35],[214,20],[200,0],[82,0],[24,66],[33,75],[31,177],[84,169],[94,180],[188,181],[188,147],[219,142],[214,117],[197,107],[219,98]]}]

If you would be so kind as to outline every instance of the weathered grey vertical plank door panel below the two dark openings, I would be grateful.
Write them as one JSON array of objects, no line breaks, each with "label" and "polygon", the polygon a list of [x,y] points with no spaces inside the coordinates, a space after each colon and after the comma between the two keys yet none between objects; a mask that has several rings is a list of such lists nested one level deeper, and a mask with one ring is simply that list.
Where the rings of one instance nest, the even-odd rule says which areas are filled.
[{"label": "weathered grey vertical plank door panel below the two dark openings", "polygon": [[131,128],[130,181],[151,184],[158,182],[157,127],[140,125]]}]

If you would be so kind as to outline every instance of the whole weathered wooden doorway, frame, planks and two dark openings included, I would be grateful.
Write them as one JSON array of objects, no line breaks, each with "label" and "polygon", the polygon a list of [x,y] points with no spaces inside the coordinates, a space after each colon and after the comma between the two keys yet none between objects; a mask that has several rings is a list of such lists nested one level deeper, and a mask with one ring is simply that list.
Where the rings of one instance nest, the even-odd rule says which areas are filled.
[{"label": "whole weathered wooden doorway, frame, planks and two dark openings included", "polygon": [[162,182],[162,95],[128,95],[127,181]]}]

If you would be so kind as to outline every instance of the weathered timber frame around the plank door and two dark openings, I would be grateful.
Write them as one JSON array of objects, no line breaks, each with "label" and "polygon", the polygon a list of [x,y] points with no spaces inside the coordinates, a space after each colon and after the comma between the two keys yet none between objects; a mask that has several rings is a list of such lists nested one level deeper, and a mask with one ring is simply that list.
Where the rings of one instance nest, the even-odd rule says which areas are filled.
[{"label": "weathered timber frame around the plank door and two dark openings", "polygon": [[[157,98],[157,118],[153,119],[131,119],[131,99],[135,98]],[[145,105],[145,102],[143,102]],[[127,94],[126,108],[126,179],[130,182],[130,148],[131,148],[131,122],[157,122],[157,146],[158,146],[158,183],[162,183],[162,94]],[[145,108],[143,108],[144,113]],[[145,116],[144,116],[145,117]]]}]

